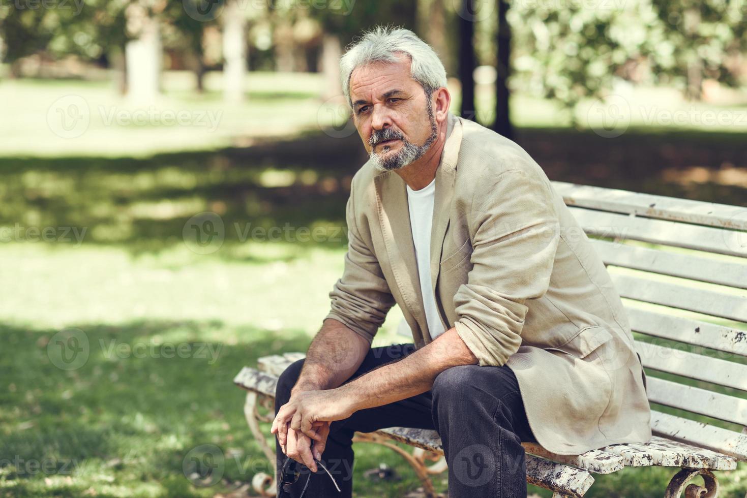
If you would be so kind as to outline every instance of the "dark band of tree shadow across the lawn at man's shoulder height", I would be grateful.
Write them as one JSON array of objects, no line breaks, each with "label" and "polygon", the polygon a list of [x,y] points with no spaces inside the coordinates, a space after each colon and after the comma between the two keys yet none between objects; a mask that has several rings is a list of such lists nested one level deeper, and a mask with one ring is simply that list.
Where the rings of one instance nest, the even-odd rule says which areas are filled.
[{"label": "dark band of tree shadow across the lawn at man's shoulder height", "polygon": [[[523,128],[517,135],[554,180],[747,205],[744,146],[730,134],[630,130],[606,139]],[[341,248],[350,181],[364,162],[357,134],[320,133],[152,158],[0,158],[0,235],[39,238],[53,228],[55,242],[75,227],[85,230],[83,243],[150,252],[183,243],[187,221],[211,211],[229,245],[279,237]],[[732,169],[722,176],[731,180],[719,183],[724,165]],[[705,179],[687,181],[688,175]],[[309,237],[315,229],[323,235]]]}]

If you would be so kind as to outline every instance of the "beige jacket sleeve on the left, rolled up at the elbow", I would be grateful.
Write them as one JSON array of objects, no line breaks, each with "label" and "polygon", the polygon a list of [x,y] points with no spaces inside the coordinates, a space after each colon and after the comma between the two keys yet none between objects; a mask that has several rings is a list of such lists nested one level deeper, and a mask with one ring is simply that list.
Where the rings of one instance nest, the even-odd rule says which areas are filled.
[{"label": "beige jacket sleeve on the left, rolled up at the elbow", "polygon": [[376,255],[356,225],[354,191],[355,187],[351,187],[346,208],[348,245],[345,267],[342,278],[335,282],[329,293],[332,306],[324,320],[334,318],[371,343],[394,305],[394,296]]}]

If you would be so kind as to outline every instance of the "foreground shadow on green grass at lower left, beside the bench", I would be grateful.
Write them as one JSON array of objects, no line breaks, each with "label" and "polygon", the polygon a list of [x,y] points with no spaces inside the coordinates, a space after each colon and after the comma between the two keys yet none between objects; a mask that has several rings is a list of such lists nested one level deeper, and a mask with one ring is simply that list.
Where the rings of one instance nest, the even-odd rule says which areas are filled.
[{"label": "foreground shadow on green grass at lower left, beside the bench", "polygon": [[[232,379],[261,355],[306,350],[307,334],[179,321],[72,330],[0,327],[8,346],[0,353],[1,496],[81,496],[90,487],[109,496],[110,486],[137,496],[155,483],[178,488],[159,493],[190,496],[179,491],[199,491],[185,476],[185,455],[204,444],[226,455],[226,479],[267,471]],[[70,334],[87,352],[84,364],[62,370],[55,365],[80,363],[60,361],[72,358],[58,348],[69,346]]]}]

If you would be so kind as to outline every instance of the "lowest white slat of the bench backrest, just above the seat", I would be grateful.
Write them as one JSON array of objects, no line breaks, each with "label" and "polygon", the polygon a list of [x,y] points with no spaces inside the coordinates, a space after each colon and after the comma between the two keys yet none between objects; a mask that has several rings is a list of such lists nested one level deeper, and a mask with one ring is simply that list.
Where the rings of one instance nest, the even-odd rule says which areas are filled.
[{"label": "lowest white slat of the bench backrest, just above the seat", "polygon": [[747,461],[747,434],[651,410],[654,435],[695,444]]}]

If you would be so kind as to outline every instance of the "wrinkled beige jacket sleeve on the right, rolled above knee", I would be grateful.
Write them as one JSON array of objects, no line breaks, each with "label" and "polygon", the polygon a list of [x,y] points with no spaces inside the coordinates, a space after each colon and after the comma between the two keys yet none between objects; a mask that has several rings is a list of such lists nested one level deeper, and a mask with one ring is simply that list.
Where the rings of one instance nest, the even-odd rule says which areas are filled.
[{"label": "wrinkled beige jacket sleeve on the right, rolled above knee", "polygon": [[468,220],[473,266],[454,296],[454,326],[480,365],[501,366],[521,345],[524,303],[548,290],[560,222],[539,175],[511,169],[478,184]]}]

